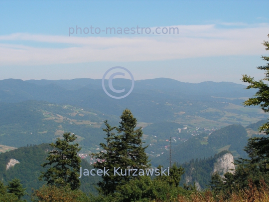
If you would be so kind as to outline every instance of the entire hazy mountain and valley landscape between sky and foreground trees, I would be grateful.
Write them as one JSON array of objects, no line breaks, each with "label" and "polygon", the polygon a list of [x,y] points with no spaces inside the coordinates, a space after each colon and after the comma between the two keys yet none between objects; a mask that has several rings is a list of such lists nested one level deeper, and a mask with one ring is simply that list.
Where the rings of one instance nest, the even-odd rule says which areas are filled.
[{"label": "entire hazy mountain and valley landscape between sky and foreground trees", "polygon": [[[109,89],[108,81],[105,85]],[[113,86],[129,91],[131,81],[114,79]],[[268,115],[258,107],[242,105],[255,94],[255,90],[244,88],[245,85],[231,82],[194,84],[158,78],[135,81],[128,97],[113,99],[104,92],[101,79],[1,80],[0,152],[19,149],[1,154],[0,167],[3,169],[12,158],[21,163],[0,172],[0,177],[4,182],[18,177],[25,185],[38,188],[40,162],[30,170],[25,165],[34,164],[34,159],[44,161],[47,155],[44,148],[48,145],[39,144],[54,142],[64,132],[71,132],[77,135],[84,157],[98,152],[105,137],[103,121],[107,119],[112,126],[118,126],[122,111],[129,108],[138,127],[143,127],[142,139],[148,145],[146,153],[152,166],[168,166],[171,137],[172,161],[179,164],[190,161],[184,165],[188,171],[195,168],[195,175],[188,174],[194,182],[212,170],[208,165],[214,164],[215,157],[210,156],[230,150],[235,158],[246,157],[242,149],[248,138],[263,135],[258,128],[265,122],[260,120]],[[31,153],[24,159],[22,151],[40,154]],[[196,159],[200,158],[209,159],[198,162]],[[88,156],[86,161],[83,165],[91,167],[93,160]],[[200,164],[205,168],[199,169]],[[35,176],[28,179],[33,172]],[[209,179],[210,174],[200,179],[202,188]],[[89,183],[85,181],[82,189],[94,192]]]}]

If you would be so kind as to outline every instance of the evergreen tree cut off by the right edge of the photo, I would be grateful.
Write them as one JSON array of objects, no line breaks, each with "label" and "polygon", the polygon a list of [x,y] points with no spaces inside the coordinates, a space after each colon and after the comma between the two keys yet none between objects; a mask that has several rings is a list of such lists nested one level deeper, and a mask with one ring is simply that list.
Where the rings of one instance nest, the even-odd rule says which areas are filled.
[{"label": "evergreen tree cut off by the right edge of the photo", "polygon": [[[268,34],[269,36],[269,34]],[[264,41],[266,50],[269,50],[269,41]],[[262,56],[263,60],[269,61],[269,56]],[[260,106],[264,112],[269,112],[269,63],[265,66],[257,67],[265,71],[265,78],[256,81],[253,77],[243,75],[242,81],[249,83],[246,89],[259,89],[258,92],[244,102],[245,106]],[[264,82],[266,81],[266,82]],[[269,122],[265,123],[260,132],[264,131],[269,135]],[[237,161],[238,168],[235,172],[235,181],[244,188],[248,185],[248,180],[252,179],[259,186],[259,180],[265,179],[269,182],[269,137],[250,138],[245,151],[248,153],[248,159]]]}]

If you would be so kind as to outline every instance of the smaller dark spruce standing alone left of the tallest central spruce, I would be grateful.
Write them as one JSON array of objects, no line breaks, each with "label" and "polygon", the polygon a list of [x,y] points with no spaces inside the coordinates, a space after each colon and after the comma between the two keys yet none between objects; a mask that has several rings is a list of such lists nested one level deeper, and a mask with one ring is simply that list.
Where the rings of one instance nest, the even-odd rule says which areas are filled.
[{"label": "smaller dark spruce standing alone left of the tallest central spruce", "polygon": [[71,133],[64,133],[64,139],[57,138],[56,143],[51,143],[50,146],[53,151],[49,152],[47,157],[48,163],[44,163],[41,166],[51,166],[46,172],[41,172],[42,175],[39,180],[44,178],[47,181],[47,185],[55,185],[57,187],[69,186],[71,190],[76,190],[80,187],[79,169],[81,159],[77,156],[77,153],[81,150],[79,144],[70,144],[77,138]]}]

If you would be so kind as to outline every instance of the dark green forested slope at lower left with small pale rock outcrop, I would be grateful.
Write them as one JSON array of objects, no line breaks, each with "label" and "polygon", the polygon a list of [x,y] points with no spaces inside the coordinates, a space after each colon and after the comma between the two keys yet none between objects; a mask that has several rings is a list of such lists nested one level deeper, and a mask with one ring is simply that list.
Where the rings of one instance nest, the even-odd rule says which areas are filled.
[{"label": "dark green forested slope at lower left with small pale rock outcrop", "polygon": [[[46,171],[40,165],[47,162],[46,157],[49,151],[51,151],[49,144],[31,145],[29,147],[21,147],[13,151],[0,154],[0,179],[7,184],[14,178],[21,180],[21,183],[27,188],[27,193],[31,193],[31,189],[40,188],[45,182],[39,181],[38,177],[41,175],[41,171]],[[14,167],[10,167],[6,170],[6,165],[10,159],[15,159],[19,163]],[[86,161],[82,161],[82,168],[93,168]],[[93,184],[99,182],[98,177],[87,176],[81,178],[81,190],[85,193],[96,193]]]}]

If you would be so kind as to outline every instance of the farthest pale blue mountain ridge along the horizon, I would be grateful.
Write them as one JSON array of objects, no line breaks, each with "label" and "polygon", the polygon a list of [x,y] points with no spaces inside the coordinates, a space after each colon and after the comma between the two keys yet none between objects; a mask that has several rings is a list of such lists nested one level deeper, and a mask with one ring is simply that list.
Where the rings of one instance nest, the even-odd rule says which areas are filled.
[{"label": "farthest pale blue mountain ridge along the horizon", "polygon": [[[4,80],[3,80],[4,81]],[[89,88],[102,90],[102,79],[90,79],[80,78],[71,80],[27,80],[25,81],[31,84],[37,84],[40,86],[57,85],[67,90],[76,90],[80,88]],[[126,87],[131,81],[128,79],[114,79],[113,84],[119,88]],[[212,82],[206,81],[201,83],[184,83],[174,79],[168,78],[156,78],[145,79],[135,81],[135,89],[138,90],[168,90],[176,91],[184,94],[214,94],[215,96],[232,96],[236,97],[236,93],[240,93],[240,96],[248,95],[251,92],[242,91],[246,86],[242,84],[236,84],[232,82]],[[238,96],[238,95],[237,95]],[[244,97],[244,96],[243,96]]]}]

